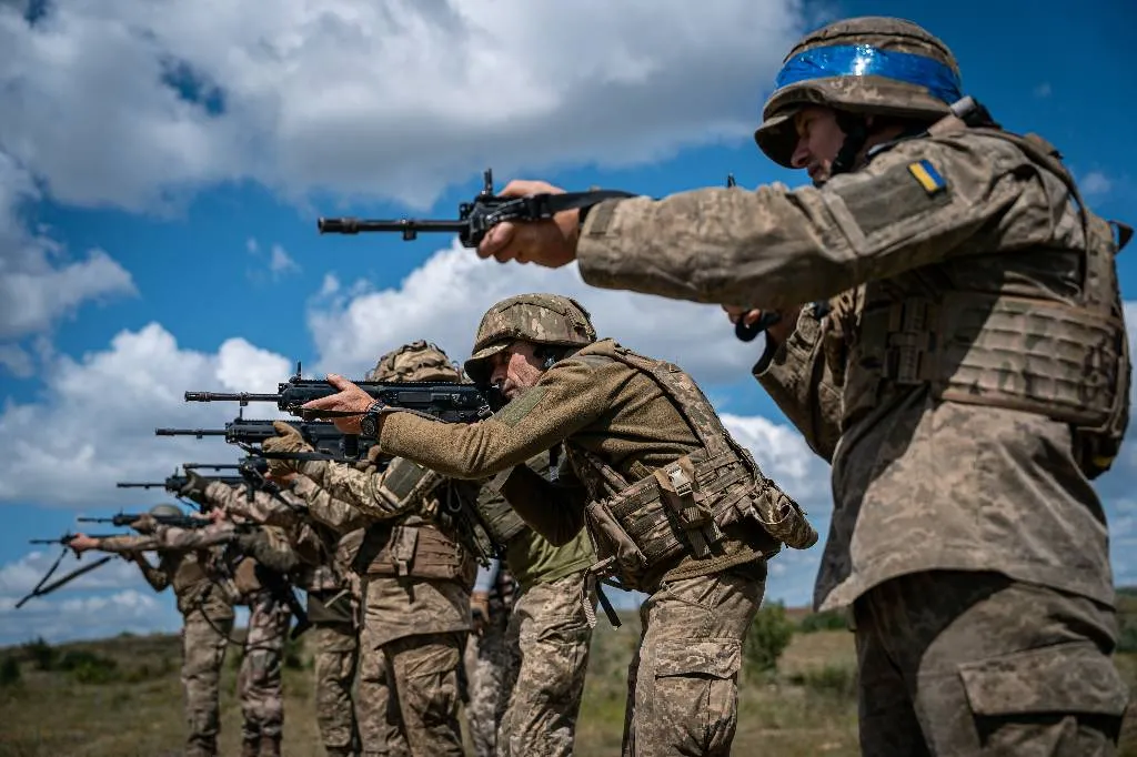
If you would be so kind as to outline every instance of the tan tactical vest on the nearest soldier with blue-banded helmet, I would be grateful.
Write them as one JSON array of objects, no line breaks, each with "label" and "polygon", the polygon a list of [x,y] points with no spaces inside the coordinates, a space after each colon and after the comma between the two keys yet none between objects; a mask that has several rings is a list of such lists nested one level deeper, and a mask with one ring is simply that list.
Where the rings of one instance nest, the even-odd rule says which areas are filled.
[{"label": "tan tactical vest on the nearest soldier with blue-banded helmet", "polygon": [[[929,132],[964,128],[948,117]],[[970,131],[1011,142],[1062,181],[1078,207],[1085,249],[1040,247],[990,256],[976,250],[865,284],[850,344],[843,427],[875,407],[890,386],[927,386],[935,400],[1069,424],[1079,465],[1094,479],[1112,465],[1129,422],[1131,366],[1114,256],[1131,230],[1090,213],[1056,150],[1043,139]],[[1055,294],[1027,283],[1045,276],[1038,261],[1047,256],[1063,261],[1077,256],[1071,267],[1080,269],[1078,291]],[[991,275],[977,276],[985,263]],[[1007,276],[1015,265],[1023,266],[1024,275]],[[1057,274],[1041,282],[1060,289]]]}]

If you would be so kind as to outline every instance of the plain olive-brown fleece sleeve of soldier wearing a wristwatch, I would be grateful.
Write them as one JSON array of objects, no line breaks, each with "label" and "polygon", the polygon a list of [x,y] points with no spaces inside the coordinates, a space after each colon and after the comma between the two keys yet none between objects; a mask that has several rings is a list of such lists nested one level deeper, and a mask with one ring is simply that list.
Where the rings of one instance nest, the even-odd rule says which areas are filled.
[{"label": "plain olive-brown fleece sleeve of soldier wearing a wristwatch", "polygon": [[380,446],[455,479],[488,479],[520,465],[595,422],[626,380],[619,363],[572,358],[549,368],[524,394],[480,423],[441,423],[390,411]]}]

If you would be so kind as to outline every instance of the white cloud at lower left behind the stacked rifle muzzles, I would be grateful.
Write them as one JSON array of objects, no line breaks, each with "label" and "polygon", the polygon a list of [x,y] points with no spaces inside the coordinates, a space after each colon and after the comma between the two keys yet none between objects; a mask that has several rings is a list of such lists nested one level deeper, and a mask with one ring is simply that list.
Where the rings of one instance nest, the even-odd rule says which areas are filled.
[{"label": "white cloud at lower left behind the stacked rifle muzzles", "polygon": [[[235,402],[185,402],[186,390],[273,392],[290,373],[287,358],[243,339],[226,340],[216,355],[179,349],[158,324],[123,331],[107,350],[81,360],[53,358],[43,376],[47,400],[9,401],[0,414],[0,501],[152,504],[164,494],[115,482],[160,480],[184,461],[236,457],[217,440],[155,438],[156,426],[219,427],[236,416]],[[248,417],[281,417],[275,406],[257,405]]]}]

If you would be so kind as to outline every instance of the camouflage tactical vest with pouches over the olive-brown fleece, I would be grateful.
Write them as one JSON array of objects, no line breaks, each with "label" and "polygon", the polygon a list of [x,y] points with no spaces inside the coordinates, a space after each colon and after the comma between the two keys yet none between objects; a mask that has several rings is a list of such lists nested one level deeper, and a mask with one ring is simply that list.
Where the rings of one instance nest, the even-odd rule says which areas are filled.
[{"label": "camouflage tactical vest with pouches over the olive-brown fleece", "polygon": [[[586,347],[573,359],[616,360],[649,376],[702,444],[653,475],[629,482],[595,454],[566,441],[566,452],[591,500],[586,523],[599,559],[591,573],[615,575],[624,589],[645,589],[642,581],[652,568],[682,557],[699,561],[699,573],[706,574],[717,563],[722,563],[717,569],[723,569],[773,555],[778,542],[796,549],[816,542],[818,533],[798,504],[762,475],[681,368],[637,355],[612,340]],[[724,549],[731,538],[723,529],[746,523],[758,525],[772,539],[756,534],[746,544]]]}]

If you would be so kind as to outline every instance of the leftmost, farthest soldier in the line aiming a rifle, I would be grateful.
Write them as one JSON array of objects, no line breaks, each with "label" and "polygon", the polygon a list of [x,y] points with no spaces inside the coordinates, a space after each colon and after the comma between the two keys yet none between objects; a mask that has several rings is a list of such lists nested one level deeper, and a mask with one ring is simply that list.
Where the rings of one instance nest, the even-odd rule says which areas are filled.
[{"label": "leftmost, farthest soldier in the line aiming a rifle", "polygon": [[[182,515],[173,505],[158,505],[152,515]],[[222,560],[222,547],[205,543],[207,530],[169,530],[161,540],[155,535],[153,521],[134,524],[142,535],[94,539],[77,535],[70,547],[76,552],[98,549],[128,555],[141,568],[155,591],[174,587],[177,610],[182,614],[182,690],[185,696],[185,756],[213,757],[217,752],[221,731],[218,709],[221,668],[233,630],[235,592],[226,583],[215,583],[216,565]],[[229,541],[225,534],[222,542]],[[150,565],[142,554],[158,552],[158,566]]]}]

